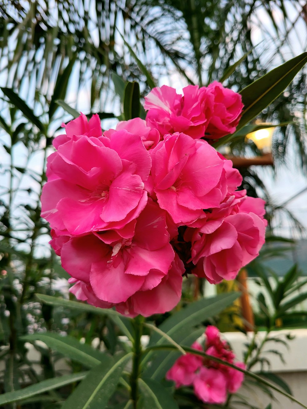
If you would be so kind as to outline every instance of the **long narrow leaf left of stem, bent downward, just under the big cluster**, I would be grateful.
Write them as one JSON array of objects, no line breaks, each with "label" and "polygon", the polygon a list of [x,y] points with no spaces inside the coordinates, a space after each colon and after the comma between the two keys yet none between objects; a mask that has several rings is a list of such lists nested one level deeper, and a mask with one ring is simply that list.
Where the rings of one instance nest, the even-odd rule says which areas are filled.
[{"label": "long narrow leaf left of stem, bent downward, just under the big cluster", "polygon": [[122,330],[122,332],[133,341],[133,327],[131,319],[124,317],[119,312],[90,306],[89,304],[80,303],[77,301],[70,301],[59,297],[51,297],[45,294],[36,294],[36,297],[45,304],[53,305],[55,307],[74,308],[83,312],[91,312],[92,314],[104,315],[110,317],[112,321]]}]

